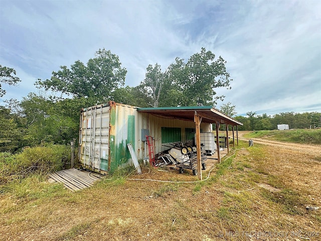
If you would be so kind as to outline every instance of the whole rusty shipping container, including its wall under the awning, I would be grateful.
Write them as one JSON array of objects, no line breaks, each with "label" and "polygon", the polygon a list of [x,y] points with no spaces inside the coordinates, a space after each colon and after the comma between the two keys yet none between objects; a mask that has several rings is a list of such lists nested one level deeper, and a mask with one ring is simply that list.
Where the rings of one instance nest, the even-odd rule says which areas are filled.
[{"label": "whole rusty shipping container, including its wall under the awning", "polygon": [[[109,101],[81,109],[79,162],[97,172],[114,172],[132,165],[127,144],[138,160],[147,159],[146,137],[151,136],[154,153],[168,149],[173,142],[194,141],[195,123],[137,111],[138,107]],[[211,124],[202,123],[202,132]]]}]

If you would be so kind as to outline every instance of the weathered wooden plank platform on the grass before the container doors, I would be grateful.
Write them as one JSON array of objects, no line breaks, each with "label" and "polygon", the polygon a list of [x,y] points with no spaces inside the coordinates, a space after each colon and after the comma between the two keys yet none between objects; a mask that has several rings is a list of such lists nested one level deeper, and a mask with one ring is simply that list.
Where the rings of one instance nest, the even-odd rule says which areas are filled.
[{"label": "weathered wooden plank platform on the grass before the container doors", "polygon": [[49,178],[54,180],[51,182],[63,183],[66,188],[71,191],[78,191],[90,187],[95,181],[98,181],[103,175],[89,171],[79,171],[75,168],[61,170],[50,173]]}]

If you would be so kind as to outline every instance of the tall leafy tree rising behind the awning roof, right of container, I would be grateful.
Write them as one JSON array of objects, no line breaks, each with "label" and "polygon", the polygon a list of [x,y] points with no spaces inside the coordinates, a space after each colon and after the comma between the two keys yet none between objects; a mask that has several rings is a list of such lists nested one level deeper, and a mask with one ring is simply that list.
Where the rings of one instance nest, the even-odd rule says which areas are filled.
[{"label": "tall leafy tree rising behind the awning roof, right of container", "polygon": [[177,94],[176,105],[213,105],[216,100],[223,100],[225,96],[215,96],[214,89],[230,88],[232,79],[225,64],[221,56],[215,60],[215,55],[205,48],[193,54],[186,63],[184,59],[176,58],[168,69],[169,80],[173,85],[171,90],[174,90],[172,94]]}]

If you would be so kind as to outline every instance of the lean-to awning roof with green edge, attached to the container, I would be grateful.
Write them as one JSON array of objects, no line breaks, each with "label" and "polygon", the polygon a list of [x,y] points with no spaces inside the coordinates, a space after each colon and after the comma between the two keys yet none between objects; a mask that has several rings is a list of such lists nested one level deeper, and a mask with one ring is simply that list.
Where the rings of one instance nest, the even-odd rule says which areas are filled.
[{"label": "lean-to awning roof with green edge, attached to the container", "polygon": [[223,123],[232,126],[243,126],[236,119],[214,109],[212,106],[184,106],[184,107],[145,107],[137,108],[138,112],[144,112],[169,118],[183,119],[194,122],[195,111],[202,116],[204,123]]}]

